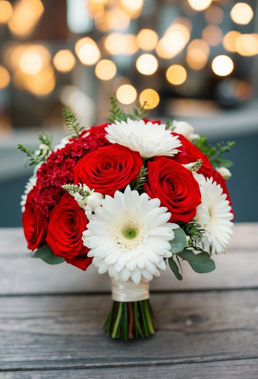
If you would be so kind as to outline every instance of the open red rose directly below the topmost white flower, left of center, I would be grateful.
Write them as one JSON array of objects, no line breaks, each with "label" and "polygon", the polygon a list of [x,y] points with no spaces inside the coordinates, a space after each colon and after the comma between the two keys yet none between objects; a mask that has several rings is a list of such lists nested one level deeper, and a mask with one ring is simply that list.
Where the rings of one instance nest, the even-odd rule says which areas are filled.
[{"label": "open red rose directly below the topmost white flower, left of center", "polygon": [[79,160],[73,169],[74,183],[87,184],[96,192],[113,196],[135,180],[143,161],[140,154],[118,144],[100,147]]}]

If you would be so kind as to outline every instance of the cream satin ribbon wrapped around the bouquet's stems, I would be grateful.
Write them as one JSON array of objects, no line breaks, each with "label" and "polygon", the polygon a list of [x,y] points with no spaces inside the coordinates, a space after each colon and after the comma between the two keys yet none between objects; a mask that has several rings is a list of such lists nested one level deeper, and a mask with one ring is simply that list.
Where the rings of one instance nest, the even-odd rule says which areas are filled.
[{"label": "cream satin ribbon wrapped around the bouquet's stems", "polygon": [[112,300],[114,301],[141,301],[149,299],[149,280],[141,277],[139,284],[135,284],[130,278],[127,282],[116,282],[111,279]]}]

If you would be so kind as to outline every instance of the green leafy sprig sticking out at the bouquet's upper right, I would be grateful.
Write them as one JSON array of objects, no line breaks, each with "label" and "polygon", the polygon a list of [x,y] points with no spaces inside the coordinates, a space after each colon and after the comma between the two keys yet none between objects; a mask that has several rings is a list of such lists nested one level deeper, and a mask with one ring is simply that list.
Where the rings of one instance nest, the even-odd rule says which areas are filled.
[{"label": "green leafy sprig sticking out at the bouquet's upper right", "polygon": [[198,149],[207,155],[210,159],[210,162],[214,168],[216,167],[230,167],[233,165],[233,162],[227,159],[224,159],[224,153],[230,152],[232,147],[235,145],[235,141],[224,141],[216,144],[216,146],[211,146],[208,144],[208,138],[201,135],[200,138],[196,138],[192,143],[198,147]]}]

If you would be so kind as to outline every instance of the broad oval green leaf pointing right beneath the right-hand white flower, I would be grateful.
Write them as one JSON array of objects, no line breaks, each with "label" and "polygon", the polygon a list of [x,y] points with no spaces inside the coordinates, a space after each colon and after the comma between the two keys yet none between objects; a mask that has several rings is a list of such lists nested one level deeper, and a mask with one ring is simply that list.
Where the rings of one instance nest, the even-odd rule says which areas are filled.
[{"label": "broad oval green leaf pointing right beneath the right-hand white flower", "polygon": [[184,250],[178,256],[185,259],[191,268],[199,274],[210,273],[215,269],[215,262],[205,255],[195,255],[192,250]]}]

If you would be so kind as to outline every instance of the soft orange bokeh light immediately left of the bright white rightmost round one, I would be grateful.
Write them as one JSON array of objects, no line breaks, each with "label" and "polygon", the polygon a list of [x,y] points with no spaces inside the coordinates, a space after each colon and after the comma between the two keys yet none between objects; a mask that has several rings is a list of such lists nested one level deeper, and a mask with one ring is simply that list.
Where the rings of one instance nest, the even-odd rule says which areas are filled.
[{"label": "soft orange bokeh light immediately left of the bright white rightmost round one", "polygon": [[203,39],[193,39],[187,47],[186,61],[189,67],[200,70],[207,64],[210,47]]}]

